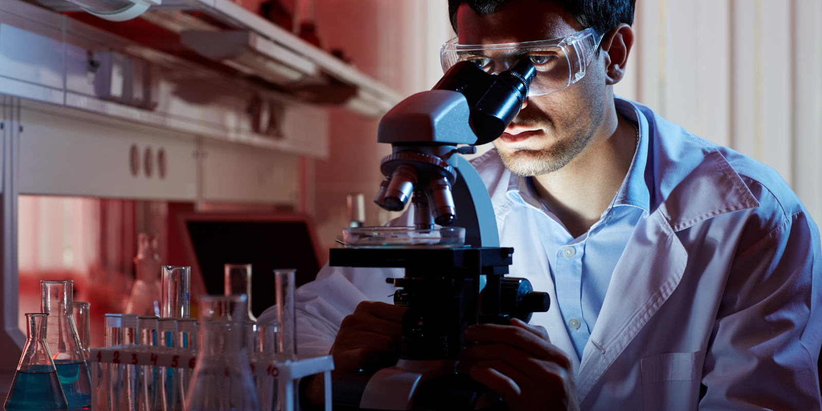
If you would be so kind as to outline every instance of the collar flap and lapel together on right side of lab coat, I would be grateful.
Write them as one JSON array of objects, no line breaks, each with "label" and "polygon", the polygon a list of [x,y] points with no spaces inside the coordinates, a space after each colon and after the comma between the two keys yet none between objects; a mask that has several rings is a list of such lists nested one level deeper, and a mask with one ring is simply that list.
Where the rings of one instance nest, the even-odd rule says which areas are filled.
[{"label": "collar flap and lapel together on right side of lab coat", "polygon": [[[657,165],[663,169],[673,164],[666,154],[667,150],[659,150],[656,155]],[[759,206],[718,151],[701,154],[700,162],[686,176],[663,185],[673,187],[672,192],[648,218],[640,219],[614,267],[603,307],[582,354],[576,380],[580,402],[677,289],[688,253],[675,232],[717,215]]]}]

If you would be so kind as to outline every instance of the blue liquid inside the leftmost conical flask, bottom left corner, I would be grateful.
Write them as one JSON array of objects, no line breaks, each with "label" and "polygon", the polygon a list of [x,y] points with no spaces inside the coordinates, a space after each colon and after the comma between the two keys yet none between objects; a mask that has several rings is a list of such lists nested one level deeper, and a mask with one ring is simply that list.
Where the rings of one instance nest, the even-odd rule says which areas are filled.
[{"label": "blue liquid inside the leftmost conical flask, bottom left corner", "polygon": [[61,395],[57,372],[49,366],[31,366],[17,371],[6,399],[6,409],[51,410],[67,409]]}]

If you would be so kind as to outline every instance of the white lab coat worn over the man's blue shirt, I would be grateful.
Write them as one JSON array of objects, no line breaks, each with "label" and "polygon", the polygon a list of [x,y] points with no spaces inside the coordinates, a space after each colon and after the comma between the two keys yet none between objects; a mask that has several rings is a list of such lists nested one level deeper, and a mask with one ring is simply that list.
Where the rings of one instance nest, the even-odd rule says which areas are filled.
[{"label": "white lab coat worn over the man's blue shirt", "polygon": [[[617,106],[649,138],[651,209],[617,262],[581,361],[533,229],[538,211],[506,196],[510,173],[493,150],[473,160],[500,244],[515,249],[510,275],[551,295],[531,323],[572,359],[581,408],[820,409],[822,250],[805,207],[764,164],[643,105]],[[391,302],[383,279],[399,276],[324,267],[298,289],[301,353],[328,353],[344,316],[363,300]]]}]

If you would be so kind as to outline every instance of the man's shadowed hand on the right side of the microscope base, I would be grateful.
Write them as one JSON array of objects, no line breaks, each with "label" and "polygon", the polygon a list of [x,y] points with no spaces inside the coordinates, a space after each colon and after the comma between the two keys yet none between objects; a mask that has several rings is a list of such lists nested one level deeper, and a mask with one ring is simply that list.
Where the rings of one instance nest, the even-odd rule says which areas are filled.
[{"label": "man's shadowed hand on the right side of the microscope base", "polygon": [[540,326],[517,319],[510,326],[478,324],[465,330],[474,341],[459,353],[457,372],[483,383],[509,409],[578,410],[570,359]]}]

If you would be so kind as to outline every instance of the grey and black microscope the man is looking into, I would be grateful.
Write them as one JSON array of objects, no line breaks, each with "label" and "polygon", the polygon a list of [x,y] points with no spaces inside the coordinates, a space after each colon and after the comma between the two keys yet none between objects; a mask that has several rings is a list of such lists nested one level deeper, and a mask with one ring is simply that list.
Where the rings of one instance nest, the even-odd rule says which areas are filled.
[{"label": "grey and black microscope the man is looking into", "polygon": [[[528,279],[510,278],[514,249],[500,247],[496,217],[485,184],[463,154],[496,140],[520,112],[533,80],[528,59],[489,74],[459,62],[432,90],[404,99],[381,119],[378,141],[392,154],[375,202],[386,210],[413,205],[416,233],[464,229],[459,247],[437,245],[346,247],[330,250],[330,266],[402,267],[396,305],[403,317],[399,362],[379,371],[339,376],[334,409],[506,409],[501,399],[469,376],[455,373],[457,353],[478,323],[507,325],[547,312],[547,293]],[[377,229],[377,228],[375,228]]]}]

